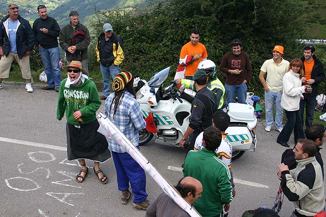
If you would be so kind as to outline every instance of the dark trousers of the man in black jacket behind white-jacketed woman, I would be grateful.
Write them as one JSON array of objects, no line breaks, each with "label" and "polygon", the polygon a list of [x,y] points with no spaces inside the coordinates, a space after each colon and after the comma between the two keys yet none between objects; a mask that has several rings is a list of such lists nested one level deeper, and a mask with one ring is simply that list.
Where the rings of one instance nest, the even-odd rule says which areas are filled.
[{"label": "dark trousers of the man in black jacket behind white-jacketed woman", "polygon": [[303,111],[306,104],[306,129],[312,125],[314,120],[314,111],[317,104],[316,96],[312,96],[310,93],[302,94],[304,99],[300,100],[300,117],[301,117],[301,124],[303,127]]}]

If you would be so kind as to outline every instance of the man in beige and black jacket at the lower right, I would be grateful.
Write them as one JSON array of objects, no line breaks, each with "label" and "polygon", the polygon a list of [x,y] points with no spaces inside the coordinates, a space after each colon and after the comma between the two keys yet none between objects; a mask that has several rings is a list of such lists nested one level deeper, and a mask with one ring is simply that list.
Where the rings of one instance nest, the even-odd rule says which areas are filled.
[{"label": "man in beige and black jacket at the lower right", "polygon": [[316,161],[316,144],[300,139],[293,149],[297,166],[293,170],[278,165],[282,190],[294,204],[291,217],[314,217],[325,209],[322,169]]}]

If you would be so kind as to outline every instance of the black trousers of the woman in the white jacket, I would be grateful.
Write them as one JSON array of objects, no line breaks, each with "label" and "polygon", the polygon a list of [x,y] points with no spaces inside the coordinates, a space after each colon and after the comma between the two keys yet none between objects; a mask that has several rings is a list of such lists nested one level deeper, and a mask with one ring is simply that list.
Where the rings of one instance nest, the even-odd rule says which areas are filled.
[{"label": "black trousers of the woman in the white jacket", "polygon": [[301,119],[300,119],[300,111],[287,111],[285,110],[285,115],[286,115],[286,123],[283,127],[283,130],[279,134],[277,141],[287,144],[288,140],[290,139],[292,130],[294,128],[294,143],[296,144],[296,141],[298,139],[305,139],[304,133],[303,133],[303,128],[301,124]]}]

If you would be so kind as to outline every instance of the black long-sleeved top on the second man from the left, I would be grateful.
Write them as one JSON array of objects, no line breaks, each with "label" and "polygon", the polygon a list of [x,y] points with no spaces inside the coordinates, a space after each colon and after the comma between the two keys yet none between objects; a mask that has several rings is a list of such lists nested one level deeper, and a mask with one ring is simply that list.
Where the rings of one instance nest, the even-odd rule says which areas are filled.
[{"label": "black long-sleeved top on the second man from the left", "polygon": [[[40,29],[47,29],[47,34],[44,34]],[[36,38],[35,45],[41,45],[45,49],[58,46],[58,38],[60,27],[57,21],[52,17],[46,19],[38,18],[34,21],[33,32]]]}]

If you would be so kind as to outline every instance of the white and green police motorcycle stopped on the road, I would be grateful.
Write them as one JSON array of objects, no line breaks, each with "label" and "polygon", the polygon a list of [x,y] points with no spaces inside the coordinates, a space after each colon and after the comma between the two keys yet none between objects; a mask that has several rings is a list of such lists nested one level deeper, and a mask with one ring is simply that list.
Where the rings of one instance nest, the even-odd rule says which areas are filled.
[{"label": "white and green police motorcycle stopped on the road", "polygon": [[[155,143],[178,146],[181,137],[187,130],[190,118],[191,102],[196,92],[184,88],[177,88],[176,81],[163,88],[163,82],[168,77],[170,67],[157,72],[148,82],[136,82],[136,98],[144,117],[153,114],[157,132],[147,130],[139,132],[139,145],[151,141],[156,136]],[[256,148],[257,119],[254,108],[245,104],[230,103],[225,109],[231,119],[226,130],[228,141],[232,145],[232,158],[237,159],[244,151],[254,151]]]}]

